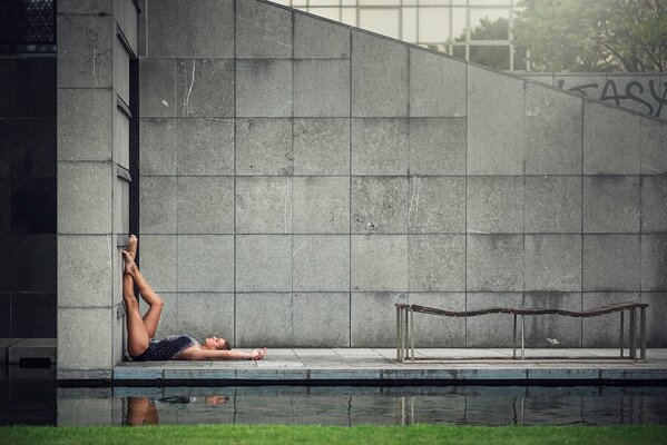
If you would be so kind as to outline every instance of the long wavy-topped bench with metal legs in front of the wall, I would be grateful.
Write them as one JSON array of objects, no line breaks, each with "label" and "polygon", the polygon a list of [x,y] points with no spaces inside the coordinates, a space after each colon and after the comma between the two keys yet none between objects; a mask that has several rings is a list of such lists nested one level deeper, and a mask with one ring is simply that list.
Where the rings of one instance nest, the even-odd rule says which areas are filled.
[{"label": "long wavy-topped bench with metal legs in front of the wall", "polygon": [[646,303],[615,303],[609,306],[596,307],[586,310],[563,309],[526,309],[513,307],[488,307],[474,310],[444,310],[434,307],[396,304],[396,358],[405,362],[414,362],[414,313],[440,315],[444,317],[474,317],[487,314],[510,314],[514,317],[513,325],[513,356],[517,358],[517,317],[521,317],[521,358],[524,358],[524,320],[527,315],[562,315],[566,317],[597,317],[598,315],[620,313],[620,356],[624,356],[624,315],[630,313],[630,355],[629,358],[637,359],[637,309],[639,309],[639,348],[640,358],[646,359]]}]

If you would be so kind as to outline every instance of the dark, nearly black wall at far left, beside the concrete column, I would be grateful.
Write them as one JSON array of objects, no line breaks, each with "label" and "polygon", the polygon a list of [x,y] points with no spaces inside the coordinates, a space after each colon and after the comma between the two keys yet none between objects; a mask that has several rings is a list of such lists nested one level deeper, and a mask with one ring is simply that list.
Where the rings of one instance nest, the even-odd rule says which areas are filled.
[{"label": "dark, nearly black wall at far left, beside the concrete column", "polygon": [[56,55],[0,58],[0,338],[56,337]]}]

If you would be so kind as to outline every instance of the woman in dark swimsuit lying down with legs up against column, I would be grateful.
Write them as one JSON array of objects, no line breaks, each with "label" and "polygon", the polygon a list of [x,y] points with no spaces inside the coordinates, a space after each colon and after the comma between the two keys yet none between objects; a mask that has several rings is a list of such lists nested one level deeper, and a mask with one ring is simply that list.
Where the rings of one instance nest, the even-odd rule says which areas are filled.
[{"label": "woman in dark swimsuit lying down with legs up against column", "polygon": [[[130,235],[127,250],[122,251],[125,274],[122,275],[122,298],[127,307],[127,352],[138,362],[157,360],[223,360],[246,359],[261,360],[266,348],[255,349],[249,354],[232,350],[229,342],[224,338],[206,338],[200,345],[188,335],[170,335],[159,342],[153,339],[165,303],[148,285],[135,264],[137,255],[136,236]],[[148,304],[148,312],[141,318],[139,303],[135,297],[135,285],[139,295]]]}]

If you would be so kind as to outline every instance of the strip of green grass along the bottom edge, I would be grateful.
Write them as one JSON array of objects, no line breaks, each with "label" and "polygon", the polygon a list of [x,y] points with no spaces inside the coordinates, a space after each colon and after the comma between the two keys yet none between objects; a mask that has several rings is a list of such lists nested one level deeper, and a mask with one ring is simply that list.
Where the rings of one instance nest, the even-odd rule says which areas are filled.
[{"label": "strip of green grass along the bottom edge", "polygon": [[666,444],[667,426],[0,427],[0,444]]}]

